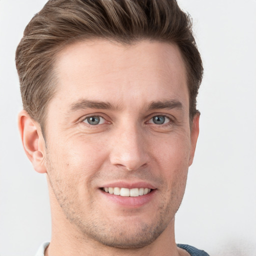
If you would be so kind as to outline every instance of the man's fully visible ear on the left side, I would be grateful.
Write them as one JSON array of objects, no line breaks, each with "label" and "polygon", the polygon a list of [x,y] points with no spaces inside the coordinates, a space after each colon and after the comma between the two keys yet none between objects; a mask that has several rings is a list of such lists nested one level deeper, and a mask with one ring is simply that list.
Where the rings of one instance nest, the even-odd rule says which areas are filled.
[{"label": "man's fully visible ear on the left side", "polygon": [[18,128],[25,153],[37,172],[45,173],[45,141],[40,125],[21,110],[18,114]]}]

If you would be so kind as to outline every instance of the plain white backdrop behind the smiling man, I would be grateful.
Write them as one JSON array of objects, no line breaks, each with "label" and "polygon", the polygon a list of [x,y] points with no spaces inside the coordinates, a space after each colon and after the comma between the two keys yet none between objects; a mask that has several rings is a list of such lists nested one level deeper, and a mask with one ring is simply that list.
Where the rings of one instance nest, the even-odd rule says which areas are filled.
[{"label": "plain white backdrop behind the smiling man", "polygon": [[[0,256],[50,240],[44,174],[21,146],[14,52],[45,0],[0,0]],[[256,256],[256,0],[178,0],[204,63],[200,134],[176,214],[176,241],[210,256]]]}]

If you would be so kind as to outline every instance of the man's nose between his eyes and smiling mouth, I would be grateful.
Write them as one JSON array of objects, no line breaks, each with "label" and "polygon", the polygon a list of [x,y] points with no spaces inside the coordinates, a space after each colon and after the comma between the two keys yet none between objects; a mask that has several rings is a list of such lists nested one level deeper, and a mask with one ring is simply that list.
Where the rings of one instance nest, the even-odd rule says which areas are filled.
[{"label": "man's nose between his eyes and smiling mouth", "polygon": [[110,162],[126,170],[137,170],[149,162],[146,136],[142,127],[125,125],[111,139]]}]

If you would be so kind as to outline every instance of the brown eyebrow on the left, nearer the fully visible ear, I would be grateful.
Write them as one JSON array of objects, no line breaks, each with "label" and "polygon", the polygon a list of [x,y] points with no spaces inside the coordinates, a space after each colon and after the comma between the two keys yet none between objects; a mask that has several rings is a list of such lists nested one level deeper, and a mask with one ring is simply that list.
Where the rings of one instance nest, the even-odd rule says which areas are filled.
[{"label": "brown eyebrow on the left, nearer the fully visible ear", "polygon": [[118,105],[113,105],[109,102],[103,101],[94,101],[88,99],[80,99],[70,105],[70,111],[77,111],[80,109],[87,109],[87,108],[97,108],[97,109],[109,109],[109,110],[118,110]]}]

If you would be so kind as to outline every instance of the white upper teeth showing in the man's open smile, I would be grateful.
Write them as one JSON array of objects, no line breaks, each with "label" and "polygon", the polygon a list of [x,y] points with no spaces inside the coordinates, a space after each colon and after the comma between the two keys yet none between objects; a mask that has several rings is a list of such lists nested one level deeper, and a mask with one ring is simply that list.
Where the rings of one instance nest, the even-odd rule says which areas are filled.
[{"label": "white upper teeth showing in the man's open smile", "polygon": [[150,193],[150,188],[126,188],[126,187],[101,187],[101,190],[109,194],[120,195],[120,196],[141,196]]}]

